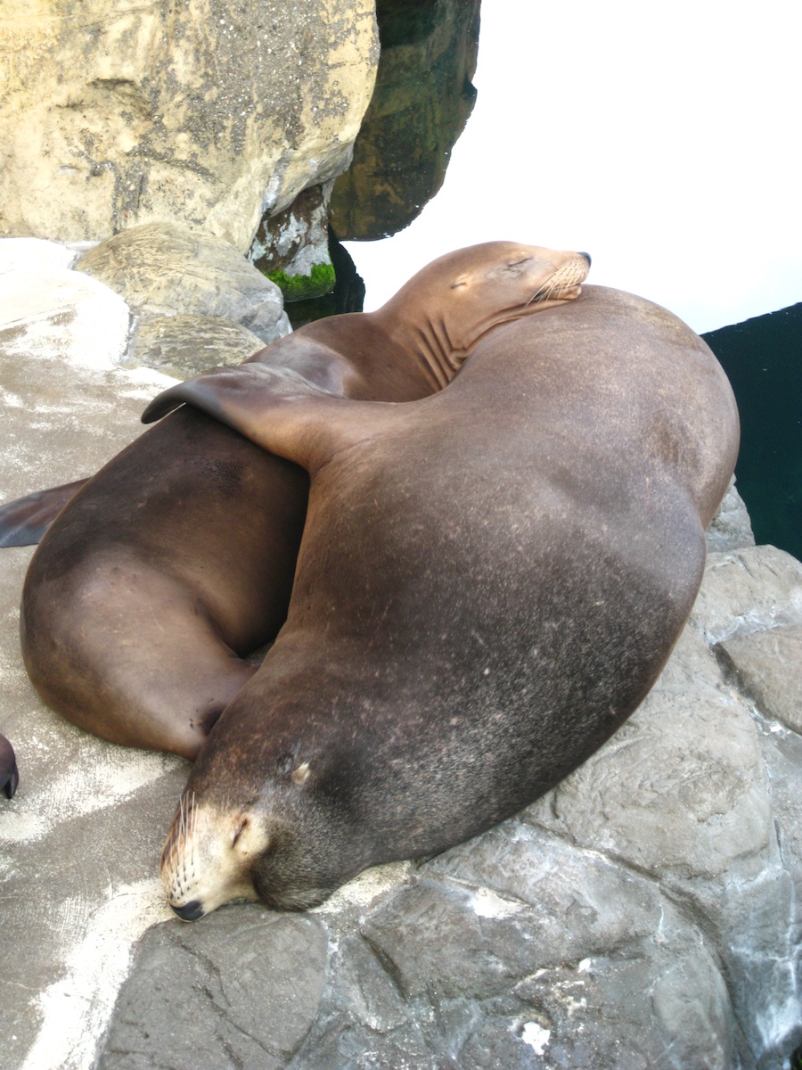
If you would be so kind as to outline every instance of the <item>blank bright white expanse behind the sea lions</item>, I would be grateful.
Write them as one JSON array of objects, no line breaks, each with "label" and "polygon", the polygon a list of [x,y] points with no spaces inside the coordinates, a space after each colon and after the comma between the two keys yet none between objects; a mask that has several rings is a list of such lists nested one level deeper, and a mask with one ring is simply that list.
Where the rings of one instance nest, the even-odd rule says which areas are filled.
[{"label": "blank bright white expanse behind the sea lions", "polygon": [[698,332],[802,301],[801,47],[800,0],[484,0],[442,190],[348,243],[366,311],[493,239],[586,250]]}]

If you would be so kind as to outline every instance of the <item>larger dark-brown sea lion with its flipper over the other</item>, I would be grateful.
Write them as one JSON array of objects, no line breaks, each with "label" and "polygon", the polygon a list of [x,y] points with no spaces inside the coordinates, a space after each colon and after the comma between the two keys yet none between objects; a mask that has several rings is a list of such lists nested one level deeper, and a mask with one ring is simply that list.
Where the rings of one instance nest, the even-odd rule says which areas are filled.
[{"label": "larger dark-brown sea lion with its flipper over the other", "polygon": [[739,435],[701,339],[599,287],[497,327],[422,400],[344,401],[255,366],[174,387],[145,417],[182,401],[311,478],[287,623],[165,845],[187,920],[233,898],[315,904],[585,761],[690,613]]}]

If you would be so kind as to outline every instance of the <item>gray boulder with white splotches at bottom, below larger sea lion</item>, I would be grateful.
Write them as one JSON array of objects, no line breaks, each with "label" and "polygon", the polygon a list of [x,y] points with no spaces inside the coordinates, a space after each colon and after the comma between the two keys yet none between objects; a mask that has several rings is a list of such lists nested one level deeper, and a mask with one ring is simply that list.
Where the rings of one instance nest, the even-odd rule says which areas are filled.
[{"label": "gray boulder with white splotches at bottom, below larger sea lion", "polygon": [[[681,1037],[675,1065],[729,1067],[726,987],[701,934],[649,882],[514,823],[444,859],[423,870],[453,880],[397,891],[361,927],[418,1002],[435,1056],[460,1068],[646,1068]],[[525,899],[488,887],[510,878]],[[635,1022],[648,1022],[636,1037]]]}]

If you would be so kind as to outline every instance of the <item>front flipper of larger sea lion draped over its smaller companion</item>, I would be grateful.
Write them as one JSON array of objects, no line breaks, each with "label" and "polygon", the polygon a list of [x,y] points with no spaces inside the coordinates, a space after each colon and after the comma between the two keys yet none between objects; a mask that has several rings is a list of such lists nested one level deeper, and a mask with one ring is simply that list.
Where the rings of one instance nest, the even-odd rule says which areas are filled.
[{"label": "front flipper of larger sea lion draped over its smaller companion", "polygon": [[[396,406],[351,401],[291,368],[243,364],[203,372],[159,394],[142,413],[151,424],[195,406],[278,457],[313,472],[337,449],[369,438]],[[416,404],[420,402],[407,402]]]}]

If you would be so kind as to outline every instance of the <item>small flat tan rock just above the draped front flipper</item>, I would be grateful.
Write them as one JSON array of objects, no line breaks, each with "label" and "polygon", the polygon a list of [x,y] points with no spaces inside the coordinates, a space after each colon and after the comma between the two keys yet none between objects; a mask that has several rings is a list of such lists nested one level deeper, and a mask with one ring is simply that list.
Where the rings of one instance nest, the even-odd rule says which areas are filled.
[{"label": "small flat tan rock just above the draped front flipper", "polygon": [[251,331],[219,316],[142,316],[123,364],[189,379],[207,368],[242,364],[263,348]]}]

